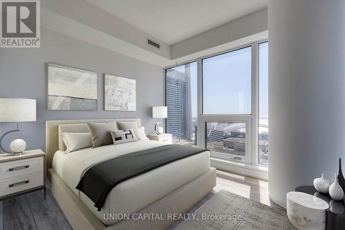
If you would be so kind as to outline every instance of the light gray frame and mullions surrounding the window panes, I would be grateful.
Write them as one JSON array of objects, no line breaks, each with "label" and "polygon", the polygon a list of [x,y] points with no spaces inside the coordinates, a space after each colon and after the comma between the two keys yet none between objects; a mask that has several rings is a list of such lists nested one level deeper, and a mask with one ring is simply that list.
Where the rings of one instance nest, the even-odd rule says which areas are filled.
[{"label": "light gray frame and mullions surrounding the window panes", "polygon": [[[206,147],[206,122],[231,122],[246,123],[246,159],[228,161],[234,163],[243,163],[244,165],[254,165],[268,168],[266,165],[259,164],[259,43],[264,43],[268,39],[260,39],[244,45],[238,45],[234,48],[215,52],[210,55],[200,56],[176,65],[164,67],[164,105],[166,105],[166,70],[179,65],[185,65],[197,61],[197,146]],[[203,114],[203,85],[202,85],[202,60],[220,54],[226,54],[242,48],[251,47],[252,51],[252,73],[251,73],[251,114]],[[166,128],[166,119],[164,122]],[[217,158],[220,160],[227,160]]]}]

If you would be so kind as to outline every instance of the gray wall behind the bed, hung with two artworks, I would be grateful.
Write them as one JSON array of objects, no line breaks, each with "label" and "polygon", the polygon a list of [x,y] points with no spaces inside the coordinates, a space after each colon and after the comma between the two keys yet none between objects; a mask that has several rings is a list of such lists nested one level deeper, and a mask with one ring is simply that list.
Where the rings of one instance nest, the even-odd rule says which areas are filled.
[{"label": "gray wall behind the bed, hung with two artworks", "polygon": [[[47,110],[47,63],[58,63],[98,74],[97,112]],[[137,80],[137,112],[103,110],[103,73],[117,74]],[[37,100],[37,121],[20,123],[20,133],[3,141],[23,138],[28,149],[45,149],[45,122],[79,118],[141,118],[146,133],[152,133],[152,105],[164,104],[163,69],[69,36],[41,29],[41,48],[0,48],[0,96]],[[2,108],[1,108],[2,109]],[[14,129],[15,123],[1,123],[0,132]]]}]

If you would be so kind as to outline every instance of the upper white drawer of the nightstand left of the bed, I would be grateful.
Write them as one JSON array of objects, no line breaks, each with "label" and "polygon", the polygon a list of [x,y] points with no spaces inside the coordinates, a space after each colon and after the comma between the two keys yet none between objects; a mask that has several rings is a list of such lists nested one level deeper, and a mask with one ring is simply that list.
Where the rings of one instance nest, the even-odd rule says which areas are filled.
[{"label": "upper white drawer of the nightstand left of the bed", "polygon": [[43,171],[43,156],[0,163],[0,180]]}]

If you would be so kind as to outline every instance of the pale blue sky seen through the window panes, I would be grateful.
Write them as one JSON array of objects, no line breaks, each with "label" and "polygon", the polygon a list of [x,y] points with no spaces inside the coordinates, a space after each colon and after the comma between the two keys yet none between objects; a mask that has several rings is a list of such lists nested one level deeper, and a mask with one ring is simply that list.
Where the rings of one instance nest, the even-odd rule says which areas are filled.
[{"label": "pale blue sky seen through the window panes", "polygon": [[[174,67],[184,72],[184,65]],[[197,62],[190,63],[192,116],[197,116]],[[251,47],[203,59],[204,114],[251,113]],[[259,44],[259,116],[268,116],[268,43]]]}]

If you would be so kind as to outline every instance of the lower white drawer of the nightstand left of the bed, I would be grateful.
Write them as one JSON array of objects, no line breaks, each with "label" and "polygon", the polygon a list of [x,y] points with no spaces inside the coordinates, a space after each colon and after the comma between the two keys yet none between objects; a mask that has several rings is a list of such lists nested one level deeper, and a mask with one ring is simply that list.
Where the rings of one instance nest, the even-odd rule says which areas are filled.
[{"label": "lower white drawer of the nightstand left of the bed", "polygon": [[18,176],[8,180],[0,180],[0,196],[14,194],[19,191],[43,185],[43,171],[37,174]]}]

